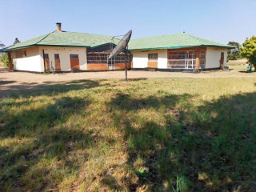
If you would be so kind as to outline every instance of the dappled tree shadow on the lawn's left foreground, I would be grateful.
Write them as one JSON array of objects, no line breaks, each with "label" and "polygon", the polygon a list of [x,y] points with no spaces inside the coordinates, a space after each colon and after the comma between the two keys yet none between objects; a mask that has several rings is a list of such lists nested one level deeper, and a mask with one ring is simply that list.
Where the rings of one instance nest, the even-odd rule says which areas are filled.
[{"label": "dappled tree shadow on the lawn's left foreground", "polygon": [[[74,154],[94,145],[93,132],[70,127],[68,121],[89,105],[86,98],[63,97],[36,109],[6,111],[0,118],[0,122],[6,122],[0,128],[0,139],[8,142],[14,138],[18,146],[10,143],[12,150],[0,148],[0,189],[1,186],[19,189],[26,183],[28,189],[49,190],[56,187],[56,181],[76,173],[76,162],[86,161],[86,155]],[[22,181],[18,179],[21,175]]]}]

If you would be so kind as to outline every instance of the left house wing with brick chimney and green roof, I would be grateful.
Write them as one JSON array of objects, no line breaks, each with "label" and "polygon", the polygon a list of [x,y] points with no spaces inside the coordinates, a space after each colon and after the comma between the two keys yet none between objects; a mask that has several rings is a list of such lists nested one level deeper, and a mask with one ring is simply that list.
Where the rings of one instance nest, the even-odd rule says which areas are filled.
[{"label": "left house wing with brick chimney and green roof", "polygon": [[[10,68],[33,72],[70,70],[124,70],[125,54],[108,59],[113,47],[120,41],[98,34],[84,34],[57,30],[25,42],[6,47]],[[128,62],[130,68],[130,61]]]}]

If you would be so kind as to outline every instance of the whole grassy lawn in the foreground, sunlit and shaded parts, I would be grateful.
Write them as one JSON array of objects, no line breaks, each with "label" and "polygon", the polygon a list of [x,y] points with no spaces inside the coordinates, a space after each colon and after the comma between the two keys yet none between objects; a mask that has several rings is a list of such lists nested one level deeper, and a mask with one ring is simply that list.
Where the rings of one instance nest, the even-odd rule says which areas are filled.
[{"label": "whole grassy lawn in the foreground, sunlit and shaded parts", "polygon": [[256,189],[254,78],[85,80],[10,93],[0,101],[1,191]]}]

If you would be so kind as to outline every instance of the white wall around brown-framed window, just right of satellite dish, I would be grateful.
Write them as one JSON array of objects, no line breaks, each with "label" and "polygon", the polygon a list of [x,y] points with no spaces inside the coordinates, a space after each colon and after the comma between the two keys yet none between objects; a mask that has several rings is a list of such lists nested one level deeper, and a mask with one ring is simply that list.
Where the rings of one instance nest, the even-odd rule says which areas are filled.
[{"label": "white wall around brown-framed window, just right of satellite dish", "polygon": [[167,50],[132,50],[133,68],[146,68],[148,54],[158,54],[158,69],[167,68]]}]

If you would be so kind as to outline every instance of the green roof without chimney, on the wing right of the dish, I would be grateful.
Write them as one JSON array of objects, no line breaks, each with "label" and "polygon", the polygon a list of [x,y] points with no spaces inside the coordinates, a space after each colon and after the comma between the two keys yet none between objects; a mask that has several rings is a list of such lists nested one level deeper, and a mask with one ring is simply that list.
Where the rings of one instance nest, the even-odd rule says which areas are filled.
[{"label": "green roof without chimney, on the wing right of the dish", "polygon": [[191,46],[215,46],[228,49],[234,48],[234,46],[228,46],[222,43],[212,42],[185,33],[131,39],[128,48],[129,50],[163,50],[178,49]]}]

